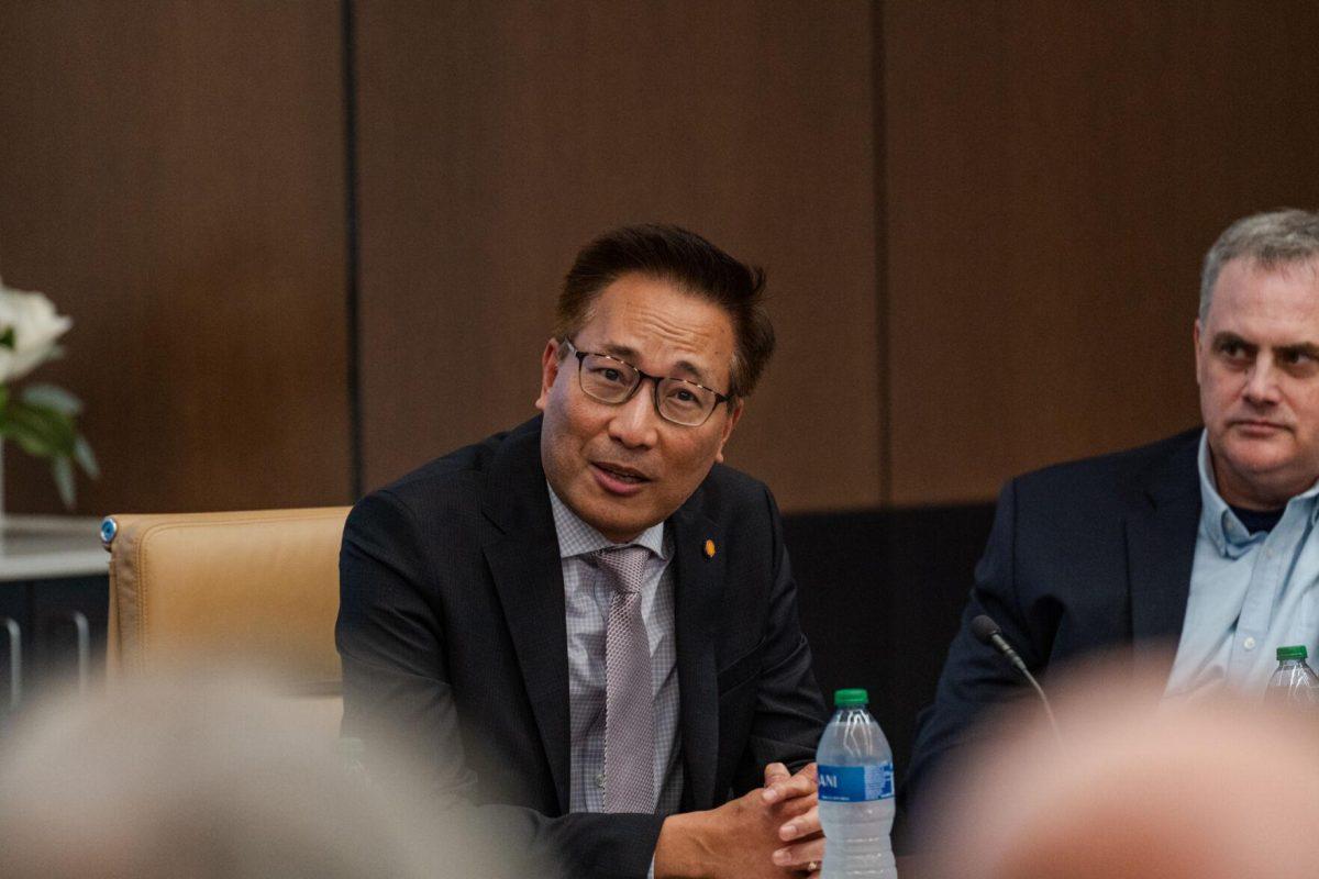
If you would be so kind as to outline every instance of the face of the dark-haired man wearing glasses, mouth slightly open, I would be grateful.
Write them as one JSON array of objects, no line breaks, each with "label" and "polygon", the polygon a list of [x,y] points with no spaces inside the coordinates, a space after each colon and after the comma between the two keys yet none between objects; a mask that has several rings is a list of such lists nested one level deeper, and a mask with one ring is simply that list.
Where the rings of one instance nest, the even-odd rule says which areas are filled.
[{"label": "face of the dark-haired man wearing glasses, mouth slightly open", "polygon": [[[718,304],[667,281],[623,275],[600,293],[591,320],[572,343],[578,351],[611,354],[650,376],[728,391],[732,320]],[[584,522],[611,540],[630,540],[669,518],[723,460],[741,403],[733,411],[721,403],[704,424],[683,427],[656,411],[649,380],[617,406],[587,397],[576,357],[561,353],[551,339],[536,401],[545,412],[545,474]]]}]

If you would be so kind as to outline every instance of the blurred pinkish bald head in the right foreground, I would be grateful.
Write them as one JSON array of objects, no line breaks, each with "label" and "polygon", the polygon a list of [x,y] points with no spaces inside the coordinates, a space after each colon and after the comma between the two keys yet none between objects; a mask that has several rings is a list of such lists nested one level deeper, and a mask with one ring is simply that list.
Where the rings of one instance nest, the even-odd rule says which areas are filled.
[{"label": "blurred pinkish bald head in the right foreground", "polygon": [[1088,696],[1058,705],[1062,749],[1047,726],[1024,723],[944,776],[956,796],[933,832],[929,875],[1312,875],[1312,720],[1228,697],[1158,705],[1141,688],[1091,683]]}]

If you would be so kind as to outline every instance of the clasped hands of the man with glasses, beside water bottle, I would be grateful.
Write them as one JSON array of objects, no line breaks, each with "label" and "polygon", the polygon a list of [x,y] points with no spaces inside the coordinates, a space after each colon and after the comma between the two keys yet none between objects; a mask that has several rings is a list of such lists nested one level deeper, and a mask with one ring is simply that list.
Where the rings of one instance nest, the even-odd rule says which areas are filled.
[{"label": "clasped hands of the man with glasses, beside water bottle", "polygon": [[[823,855],[824,843],[815,812],[814,766],[803,775],[806,772],[802,770],[793,776],[781,763],[770,764],[765,775],[778,785],[774,795],[766,797],[766,788],[756,788],[718,809],[669,816],[656,845],[656,878],[783,879],[807,875],[810,862],[819,862]],[[791,830],[785,836],[787,828]],[[809,839],[813,833],[816,838]],[[785,847],[787,841],[797,842]],[[785,849],[787,854],[776,858],[776,853]]]}]

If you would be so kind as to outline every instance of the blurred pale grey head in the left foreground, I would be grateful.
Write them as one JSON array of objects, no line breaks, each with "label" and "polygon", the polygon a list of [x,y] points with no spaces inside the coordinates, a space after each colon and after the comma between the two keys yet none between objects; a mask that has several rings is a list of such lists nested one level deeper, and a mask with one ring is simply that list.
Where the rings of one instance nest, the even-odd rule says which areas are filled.
[{"label": "blurred pale grey head in the left foreground", "polygon": [[36,710],[0,751],[0,875],[445,874],[462,849],[355,783],[295,706],[179,680]]}]

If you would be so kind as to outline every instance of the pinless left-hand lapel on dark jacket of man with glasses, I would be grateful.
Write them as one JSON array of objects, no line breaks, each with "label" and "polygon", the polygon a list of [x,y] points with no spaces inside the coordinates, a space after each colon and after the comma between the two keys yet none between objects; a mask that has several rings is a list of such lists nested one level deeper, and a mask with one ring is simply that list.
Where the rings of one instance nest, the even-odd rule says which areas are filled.
[{"label": "pinless left-hand lapel on dark jacket of man with glasses", "polygon": [[483,551],[517,652],[559,810],[566,813],[571,738],[567,623],[563,568],[539,436],[539,419],[517,428],[491,465],[484,513],[499,532]]}]

